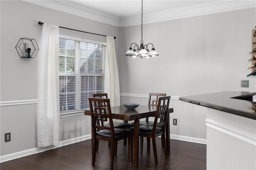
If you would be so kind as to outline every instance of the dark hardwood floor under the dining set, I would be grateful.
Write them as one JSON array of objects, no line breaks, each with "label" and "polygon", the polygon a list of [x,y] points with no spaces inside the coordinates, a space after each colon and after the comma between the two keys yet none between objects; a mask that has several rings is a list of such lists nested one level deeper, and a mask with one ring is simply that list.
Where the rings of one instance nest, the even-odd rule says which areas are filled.
[{"label": "dark hardwood floor under the dining set", "polygon": [[[206,170],[206,145],[179,140],[171,140],[171,154],[164,159],[161,140],[157,138],[158,165],[154,164],[151,146],[146,151],[144,140],[143,154],[139,156],[138,170]],[[151,144],[152,145],[152,144]],[[1,170],[108,170],[110,168],[110,148],[100,141],[95,166],[92,166],[91,140],[85,140],[46,152],[26,156],[0,164]],[[133,162],[128,160],[128,146],[118,144],[114,161],[115,170],[130,170]]]}]

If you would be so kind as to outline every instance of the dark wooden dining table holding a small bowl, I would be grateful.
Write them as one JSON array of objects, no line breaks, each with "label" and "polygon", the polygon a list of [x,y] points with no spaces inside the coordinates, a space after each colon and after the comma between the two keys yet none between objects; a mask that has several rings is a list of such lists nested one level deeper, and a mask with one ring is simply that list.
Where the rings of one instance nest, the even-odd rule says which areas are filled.
[{"label": "dark wooden dining table holding a small bowl", "polygon": [[[128,110],[124,106],[111,107],[112,118],[122,121],[134,121],[134,168],[138,168],[139,164],[139,126],[140,119],[146,117],[154,117],[156,113],[156,106],[139,105],[136,109]],[[166,148],[167,153],[170,154],[170,119],[169,113],[173,113],[173,108],[168,109],[168,119],[166,122]],[[84,115],[91,116],[90,109],[84,111]]]}]

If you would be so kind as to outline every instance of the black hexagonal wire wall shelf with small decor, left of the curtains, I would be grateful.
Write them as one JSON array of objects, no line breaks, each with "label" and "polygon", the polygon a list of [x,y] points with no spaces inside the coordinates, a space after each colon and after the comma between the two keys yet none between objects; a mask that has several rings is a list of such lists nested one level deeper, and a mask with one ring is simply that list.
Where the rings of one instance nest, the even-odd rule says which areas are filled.
[{"label": "black hexagonal wire wall shelf with small decor, left of the curtains", "polygon": [[39,47],[35,39],[20,38],[16,50],[22,58],[34,58],[39,51]]}]

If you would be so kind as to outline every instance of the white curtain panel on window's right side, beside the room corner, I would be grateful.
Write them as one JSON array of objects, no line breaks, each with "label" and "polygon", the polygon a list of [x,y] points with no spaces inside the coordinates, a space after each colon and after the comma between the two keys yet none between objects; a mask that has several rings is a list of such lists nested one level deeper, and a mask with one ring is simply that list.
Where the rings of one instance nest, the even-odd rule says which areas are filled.
[{"label": "white curtain panel on window's right side, beside the room corner", "polygon": [[111,106],[120,105],[120,88],[114,37],[107,36],[104,91],[108,93]]}]

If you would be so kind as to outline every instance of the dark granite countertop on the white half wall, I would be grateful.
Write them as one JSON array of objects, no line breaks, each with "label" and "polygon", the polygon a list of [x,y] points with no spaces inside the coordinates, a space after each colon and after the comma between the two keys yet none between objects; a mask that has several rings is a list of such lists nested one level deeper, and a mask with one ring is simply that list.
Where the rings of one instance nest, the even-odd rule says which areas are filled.
[{"label": "dark granite countertop on the white half wall", "polygon": [[252,102],[253,95],[256,92],[222,91],[184,96],[180,100],[256,120],[256,102]]}]

